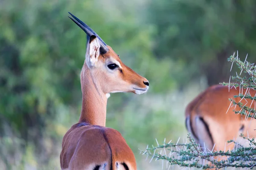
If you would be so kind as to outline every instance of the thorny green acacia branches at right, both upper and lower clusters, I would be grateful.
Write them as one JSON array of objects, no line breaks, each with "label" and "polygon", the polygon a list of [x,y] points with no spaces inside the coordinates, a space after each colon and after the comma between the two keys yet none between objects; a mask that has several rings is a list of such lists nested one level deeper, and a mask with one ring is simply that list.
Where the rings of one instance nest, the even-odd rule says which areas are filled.
[{"label": "thorny green acacia branches at right, both upper and lower clusters", "polygon": [[[249,75],[249,77],[240,77],[240,75],[236,74],[235,77],[232,77],[232,79],[236,80],[236,83],[221,83],[223,85],[228,85],[230,88],[234,86],[235,88],[240,88],[242,91],[244,89],[245,94],[243,95],[238,94],[234,96],[235,98],[239,97],[240,99],[253,99],[255,100],[255,96],[250,96],[250,90],[253,89],[256,90],[256,66],[255,63],[247,62],[246,59],[244,62],[242,62],[238,55],[235,57],[235,53],[228,58],[229,62],[233,63],[235,62],[238,65],[238,68],[245,73]],[[232,69],[232,67],[231,67]],[[245,90],[246,89],[246,90]],[[248,106],[245,106],[241,102],[236,102],[234,99],[230,99],[230,101],[233,102],[233,105],[238,105],[241,110],[235,111],[236,114],[242,114],[245,115],[246,118],[253,117],[256,119],[255,116],[255,108],[250,108]],[[173,144],[173,143],[163,143],[162,145],[158,144],[157,147],[152,146],[152,148],[148,148],[143,152],[143,154],[147,154],[148,156],[151,156],[151,159],[156,158],[156,160],[165,160],[167,161],[166,165],[169,164],[169,167],[171,165],[178,165],[180,167],[196,167],[196,168],[215,168],[215,169],[221,169],[221,168],[227,168],[227,167],[242,167],[242,168],[249,168],[253,169],[253,167],[256,167],[256,142],[253,139],[249,139],[248,137],[245,137],[243,134],[240,135],[244,140],[249,142],[249,146],[242,146],[239,143],[234,142],[233,140],[228,141],[234,142],[236,147],[234,150],[231,151],[213,151],[209,150],[208,148],[205,148],[203,146],[199,146],[195,142],[194,139],[192,139],[188,135],[189,143],[183,143],[183,144]],[[159,153],[159,149],[161,149]],[[162,154],[162,149],[164,150]],[[169,155],[166,153],[166,149],[170,151]],[[158,151],[158,152],[157,152]],[[151,153],[153,152],[153,153]],[[157,152],[157,153],[156,153]],[[221,157],[220,160],[216,160],[213,156]],[[227,158],[227,159],[223,159]]]}]

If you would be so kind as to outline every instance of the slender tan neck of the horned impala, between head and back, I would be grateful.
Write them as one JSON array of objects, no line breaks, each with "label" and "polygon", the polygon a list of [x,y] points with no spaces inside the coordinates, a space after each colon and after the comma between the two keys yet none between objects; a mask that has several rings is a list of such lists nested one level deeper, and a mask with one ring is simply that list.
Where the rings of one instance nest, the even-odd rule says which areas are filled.
[{"label": "slender tan neck of the horned impala, between head and back", "polygon": [[91,125],[106,125],[107,96],[97,88],[96,82],[86,63],[81,71],[82,109],[79,123],[87,122]]}]

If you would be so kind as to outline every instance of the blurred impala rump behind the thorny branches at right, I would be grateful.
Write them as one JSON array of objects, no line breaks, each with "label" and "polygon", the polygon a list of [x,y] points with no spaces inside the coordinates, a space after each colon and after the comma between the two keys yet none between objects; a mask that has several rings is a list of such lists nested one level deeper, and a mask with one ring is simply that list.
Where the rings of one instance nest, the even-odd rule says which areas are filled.
[{"label": "blurred impala rump behind the thorny branches at right", "polygon": [[227,151],[235,147],[234,143],[227,144],[227,141],[235,139],[240,142],[241,133],[244,136],[249,134],[250,138],[256,137],[254,130],[256,119],[247,119],[244,115],[235,114],[234,110],[240,111],[241,108],[231,107],[233,104],[229,99],[233,98],[237,103],[242,102],[250,108],[255,108],[256,102],[251,99],[234,98],[239,94],[255,96],[256,91],[213,85],[199,94],[186,107],[186,128],[201,147],[215,151]]}]

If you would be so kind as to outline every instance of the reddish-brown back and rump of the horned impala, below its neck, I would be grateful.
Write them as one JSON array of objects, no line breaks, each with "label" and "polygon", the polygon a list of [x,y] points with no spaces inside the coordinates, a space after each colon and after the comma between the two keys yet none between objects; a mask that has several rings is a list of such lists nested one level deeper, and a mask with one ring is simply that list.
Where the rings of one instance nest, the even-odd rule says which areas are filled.
[{"label": "reddish-brown back and rump of the horned impala, below its neck", "polygon": [[[122,135],[112,128],[97,125],[73,125],[62,142],[61,168],[70,170],[93,170],[106,164],[106,170],[127,164],[129,170],[136,170],[136,161]],[[111,161],[112,160],[112,161]],[[112,164],[112,165],[111,165]]]}]

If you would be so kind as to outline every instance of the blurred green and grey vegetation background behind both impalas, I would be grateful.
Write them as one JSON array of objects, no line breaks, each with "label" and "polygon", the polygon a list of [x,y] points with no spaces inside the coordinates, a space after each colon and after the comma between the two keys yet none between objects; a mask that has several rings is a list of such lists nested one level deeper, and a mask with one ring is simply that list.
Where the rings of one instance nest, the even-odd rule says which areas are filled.
[{"label": "blurred green and grey vegetation background behind both impalas", "polygon": [[[122,133],[139,170],[146,145],[186,138],[186,105],[228,82],[227,57],[256,60],[255,0],[0,0],[0,169],[59,170],[64,134],[79,119],[87,23],[150,82],[112,94],[107,126]],[[236,71],[233,69],[233,71]]]}]

